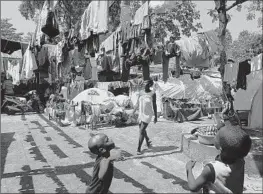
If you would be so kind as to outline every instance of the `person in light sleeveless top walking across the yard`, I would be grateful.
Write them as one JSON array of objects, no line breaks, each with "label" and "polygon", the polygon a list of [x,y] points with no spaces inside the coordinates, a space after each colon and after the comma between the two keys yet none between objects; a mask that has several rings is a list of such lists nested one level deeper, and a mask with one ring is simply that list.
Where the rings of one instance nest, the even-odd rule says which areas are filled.
[{"label": "person in light sleeveless top walking across the yard", "polygon": [[137,148],[137,154],[140,155],[141,147],[144,138],[146,139],[146,144],[151,147],[151,141],[147,135],[146,128],[154,118],[154,123],[157,122],[157,105],[156,105],[156,94],[155,90],[151,90],[153,86],[153,80],[147,80],[145,85],[145,90],[141,91],[138,97],[137,104],[135,105],[133,113],[139,107],[139,144]]}]

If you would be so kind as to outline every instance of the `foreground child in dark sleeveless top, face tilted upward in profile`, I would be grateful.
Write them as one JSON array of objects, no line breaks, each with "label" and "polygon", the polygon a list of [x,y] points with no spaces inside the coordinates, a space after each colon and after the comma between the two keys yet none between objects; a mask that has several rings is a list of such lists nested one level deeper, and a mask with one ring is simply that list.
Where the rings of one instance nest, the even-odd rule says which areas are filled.
[{"label": "foreground child in dark sleeveless top, face tilted upward in profile", "polygon": [[90,151],[97,155],[93,175],[86,193],[108,193],[113,177],[113,161],[120,159],[120,154],[111,154],[114,142],[105,134],[97,134],[88,142]]}]

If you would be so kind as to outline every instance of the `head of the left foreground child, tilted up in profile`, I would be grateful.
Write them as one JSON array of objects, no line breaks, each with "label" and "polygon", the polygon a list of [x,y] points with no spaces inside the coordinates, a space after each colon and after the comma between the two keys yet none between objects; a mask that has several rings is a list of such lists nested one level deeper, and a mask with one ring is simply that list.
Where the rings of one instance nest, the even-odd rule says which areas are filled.
[{"label": "head of the left foreground child, tilted up in profile", "polygon": [[91,137],[88,146],[90,151],[97,155],[109,154],[110,150],[115,148],[114,142],[103,133]]}]

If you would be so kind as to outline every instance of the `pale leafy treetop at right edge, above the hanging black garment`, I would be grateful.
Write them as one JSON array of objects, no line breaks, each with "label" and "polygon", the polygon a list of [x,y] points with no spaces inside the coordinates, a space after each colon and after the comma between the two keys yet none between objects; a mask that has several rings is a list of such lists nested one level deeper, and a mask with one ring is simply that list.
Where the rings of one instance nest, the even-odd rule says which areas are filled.
[{"label": "pale leafy treetop at right edge, above the hanging black garment", "polygon": [[251,33],[247,30],[239,33],[238,39],[229,49],[231,56],[237,61],[244,61],[262,52],[263,38],[261,34]]}]

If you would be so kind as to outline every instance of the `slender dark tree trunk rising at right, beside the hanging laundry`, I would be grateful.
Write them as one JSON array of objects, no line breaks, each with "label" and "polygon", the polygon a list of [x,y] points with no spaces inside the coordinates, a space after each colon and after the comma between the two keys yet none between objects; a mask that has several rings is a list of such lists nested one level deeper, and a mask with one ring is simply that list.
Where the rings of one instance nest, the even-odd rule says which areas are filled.
[{"label": "slender dark tree trunk rising at right, beside the hanging laundry", "polygon": [[[222,78],[222,92],[224,97],[226,97],[226,84],[224,80],[225,65],[227,63],[226,55],[226,27],[228,23],[227,14],[226,14],[226,0],[214,0],[216,5],[216,10],[219,17],[219,37],[221,41],[220,48],[220,74]],[[226,100],[226,99],[225,99]]]}]

